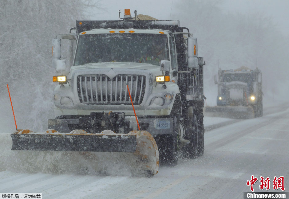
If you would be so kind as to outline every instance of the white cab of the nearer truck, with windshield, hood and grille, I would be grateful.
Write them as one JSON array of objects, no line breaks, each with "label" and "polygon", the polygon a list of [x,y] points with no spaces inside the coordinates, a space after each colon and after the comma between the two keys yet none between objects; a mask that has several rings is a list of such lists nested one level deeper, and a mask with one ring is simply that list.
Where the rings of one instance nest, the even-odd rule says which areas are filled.
[{"label": "white cab of the nearer truck, with windshield, hood and grille", "polygon": [[[170,36],[171,34],[171,36]],[[161,62],[164,68],[161,67]],[[55,113],[77,115],[78,110],[169,115],[179,94],[176,46],[169,31],[158,29],[95,29],[78,36],[68,84],[60,84],[55,95],[66,94],[67,104],[54,100]],[[166,80],[161,80],[165,76]],[[75,85],[70,88],[69,85]],[[165,85],[165,86],[164,86]],[[58,90],[58,91],[57,91]]]}]

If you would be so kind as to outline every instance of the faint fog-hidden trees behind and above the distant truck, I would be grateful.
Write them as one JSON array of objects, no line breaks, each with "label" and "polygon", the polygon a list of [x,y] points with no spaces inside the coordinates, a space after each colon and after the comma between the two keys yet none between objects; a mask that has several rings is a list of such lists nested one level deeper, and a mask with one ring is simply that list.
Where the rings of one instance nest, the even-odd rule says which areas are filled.
[{"label": "faint fog-hidden trees behind and above the distant truck", "polygon": [[[261,14],[225,13],[212,0],[182,0],[173,18],[198,37],[199,55],[204,57],[204,92],[210,105],[216,104],[216,86],[212,76],[222,69],[260,68],[263,73],[264,99],[288,93],[288,39],[275,29],[269,17]],[[181,12],[180,12],[181,11]],[[180,13],[182,13],[180,15]],[[282,89],[280,89],[282,88]],[[269,95],[269,97],[268,97]],[[279,97],[281,98],[281,97]],[[276,99],[276,97],[275,97]]]}]

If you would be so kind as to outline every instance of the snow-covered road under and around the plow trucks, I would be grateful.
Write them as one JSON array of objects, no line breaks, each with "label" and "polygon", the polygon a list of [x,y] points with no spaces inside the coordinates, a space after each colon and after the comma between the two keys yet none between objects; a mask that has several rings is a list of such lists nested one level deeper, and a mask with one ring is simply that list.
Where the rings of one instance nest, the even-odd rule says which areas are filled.
[{"label": "snow-covered road under and around the plow trucks", "polygon": [[[275,111],[276,112],[276,111]],[[243,198],[251,175],[285,177],[289,189],[289,109],[262,118],[240,120],[205,132],[205,152],[176,167],[160,166],[153,178],[97,174],[29,173],[16,160],[0,160],[0,193],[42,193],[43,198]],[[207,121],[207,125],[214,123]],[[7,157],[9,134],[0,134],[0,158]],[[8,154],[9,156],[9,154]],[[14,156],[11,156],[14,158]],[[30,157],[31,158],[31,157]],[[19,160],[23,162],[22,160]],[[36,160],[35,160],[36,161]],[[10,163],[7,165],[7,162]],[[75,162],[77,164],[77,162]],[[5,165],[5,166],[3,166]],[[39,169],[39,168],[38,168]]]}]

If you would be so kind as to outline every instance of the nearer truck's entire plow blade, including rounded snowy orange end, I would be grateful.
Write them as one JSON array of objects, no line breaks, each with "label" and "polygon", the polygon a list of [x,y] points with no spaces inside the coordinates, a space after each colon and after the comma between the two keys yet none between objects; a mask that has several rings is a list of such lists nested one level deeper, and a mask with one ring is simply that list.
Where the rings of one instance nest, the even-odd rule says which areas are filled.
[{"label": "nearer truck's entire plow blade, including rounded snowy orange end", "polygon": [[90,134],[83,130],[74,130],[70,133],[59,133],[55,130],[47,130],[46,133],[18,130],[11,134],[11,137],[11,150],[82,152],[95,160],[100,159],[97,158],[99,155],[106,159],[106,155],[113,154],[116,162],[120,162],[123,157],[130,159],[132,173],[142,173],[146,176],[158,173],[158,148],[156,141],[147,131],[115,134],[113,131],[105,130],[99,134]]}]

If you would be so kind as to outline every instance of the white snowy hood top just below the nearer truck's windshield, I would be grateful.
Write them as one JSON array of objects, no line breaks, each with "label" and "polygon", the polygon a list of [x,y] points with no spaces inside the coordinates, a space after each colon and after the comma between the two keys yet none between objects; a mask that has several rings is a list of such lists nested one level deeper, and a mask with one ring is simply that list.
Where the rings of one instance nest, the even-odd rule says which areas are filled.
[{"label": "white snowy hood top just below the nearer truck's windshield", "polygon": [[160,66],[144,63],[131,63],[131,62],[105,62],[105,63],[91,63],[81,66],[72,66],[70,68],[70,76],[77,70],[82,69],[96,69],[96,68],[131,68],[149,70],[153,74],[161,74]]}]

